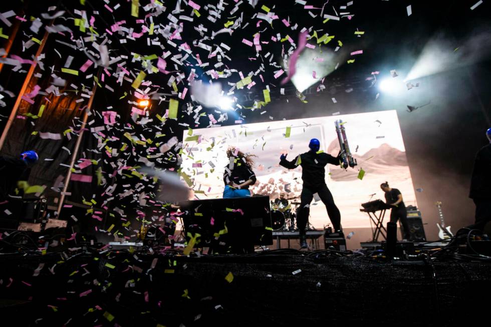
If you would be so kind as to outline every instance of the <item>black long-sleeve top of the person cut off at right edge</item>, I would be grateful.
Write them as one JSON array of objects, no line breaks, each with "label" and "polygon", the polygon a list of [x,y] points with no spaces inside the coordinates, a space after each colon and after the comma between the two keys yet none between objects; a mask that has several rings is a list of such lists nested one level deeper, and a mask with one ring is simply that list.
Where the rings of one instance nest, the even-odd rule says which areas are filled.
[{"label": "black long-sleeve top of the person cut off at right edge", "polygon": [[471,199],[491,198],[491,144],[482,147],[475,155],[469,197]]}]

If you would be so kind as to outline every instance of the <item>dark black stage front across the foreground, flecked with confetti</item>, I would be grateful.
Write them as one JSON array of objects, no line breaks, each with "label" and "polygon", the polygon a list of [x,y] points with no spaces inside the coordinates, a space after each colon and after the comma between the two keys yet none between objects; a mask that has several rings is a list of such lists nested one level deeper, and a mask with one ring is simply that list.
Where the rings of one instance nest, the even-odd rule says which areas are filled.
[{"label": "dark black stage front across the foreground, flecked with confetti", "polygon": [[3,321],[37,326],[443,326],[469,319],[463,312],[484,312],[479,310],[488,301],[482,296],[491,291],[491,264],[481,261],[386,262],[294,249],[200,257],[77,251],[2,255]]}]

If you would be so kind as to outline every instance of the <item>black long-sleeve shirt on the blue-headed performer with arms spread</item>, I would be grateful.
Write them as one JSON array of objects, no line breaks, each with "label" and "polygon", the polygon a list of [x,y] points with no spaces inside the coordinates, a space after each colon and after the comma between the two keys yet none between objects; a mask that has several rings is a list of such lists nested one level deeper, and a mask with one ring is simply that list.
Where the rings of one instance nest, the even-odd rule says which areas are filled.
[{"label": "black long-sleeve shirt on the blue-headed performer with arms spread", "polygon": [[324,167],[327,164],[339,165],[339,158],[333,157],[328,153],[316,153],[315,151],[309,151],[298,155],[293,161],[282,159],[280,165],[288,168],[295,169],[299,165],[302,166],[302,180],[304,181],[304,187],[315,190],[323,186],[326,181],[326,171]]}]

